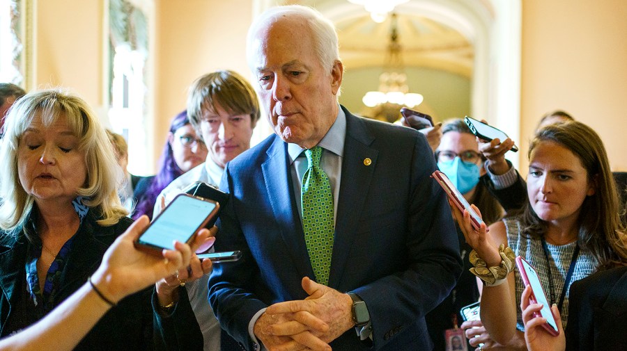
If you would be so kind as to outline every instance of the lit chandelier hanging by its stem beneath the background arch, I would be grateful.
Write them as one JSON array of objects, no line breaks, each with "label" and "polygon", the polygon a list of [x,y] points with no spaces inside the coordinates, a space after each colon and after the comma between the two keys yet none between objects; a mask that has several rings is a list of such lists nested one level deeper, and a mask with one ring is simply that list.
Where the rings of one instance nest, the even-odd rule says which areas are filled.
[{"label": "lit chandelier hanging by its stem beneath the background arch", "polygon": [[390,42],[387,49],[385,68],[379,76],[379,90],[366,92],[362,101],[368,107],[396,104],[411,108],[419,105],[424,98],[420,94],[408,92],[407,75],[405,75],[403,58],[401,58],[401,44],[398,43],[395,13],[392,13],[391,20]]}]

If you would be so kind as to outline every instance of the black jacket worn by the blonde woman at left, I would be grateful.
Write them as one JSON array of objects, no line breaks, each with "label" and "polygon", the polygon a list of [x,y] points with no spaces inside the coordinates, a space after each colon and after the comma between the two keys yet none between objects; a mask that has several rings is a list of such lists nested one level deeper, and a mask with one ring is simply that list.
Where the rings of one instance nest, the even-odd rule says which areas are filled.
[{"label": "black jacket worn by the blonde woman at left", "polygon": [[[129,218],[121,218],[116,225],[102,227],[96,220],[94,211],[90,210],[74,236],[65,267],[59,273],[60,288],[52,302],[54,307],[85,284],[100,265],[107,248],[132,222]],[[23,311],[29,302],[24,285],[27,247],[28,240],[22,228],[0,237],[0,288],[3,291],[0,296],[0,336],[15,331],[22,322],[35,321],[29,318],[29,311]],[[121,300],[104,314],[75,350],[153,350],[152,291],[150,287]],[[53,345],[49,347],[54,348]]]}]

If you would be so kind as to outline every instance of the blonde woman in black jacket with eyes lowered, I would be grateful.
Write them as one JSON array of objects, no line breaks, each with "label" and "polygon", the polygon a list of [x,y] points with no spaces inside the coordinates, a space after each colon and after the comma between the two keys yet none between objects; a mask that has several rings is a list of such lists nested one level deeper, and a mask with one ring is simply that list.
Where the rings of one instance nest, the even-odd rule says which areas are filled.
[{"label": "blonde woman in black jacket with eyes lowered", "polygon": [[[79,97],[25,95],[6,117],[1,142],[0,336],[7,336],[83,286],[131,220],[116,190],[109,138]],[[90,282],[107,297],[106,284]],[[108,303],[113,308],[77,350],[152,348],[150,290]]]}]

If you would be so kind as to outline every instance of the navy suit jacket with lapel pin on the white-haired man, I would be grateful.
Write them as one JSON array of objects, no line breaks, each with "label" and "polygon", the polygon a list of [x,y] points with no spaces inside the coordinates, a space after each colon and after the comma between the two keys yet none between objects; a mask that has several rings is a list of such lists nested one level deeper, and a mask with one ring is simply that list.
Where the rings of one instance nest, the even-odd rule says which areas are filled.
[{"label": "navy suit jacket with lapel pin on the white-haired man", "polygon": [[[426,138],[346,111],[329,286],[366,302],[375,350],[431,350],[424,315],[455,286],[461,261],[446,195]],[[366,165],[364,159],[370,158]],[[226,165],[231,193],[217,251],[242,250],[214,266],[209,300],[222,327],[252,348],[249,321],[276,302],[302,300],[315,279],[297,210],[287,144],[272,135]],[[334,350],[366,350],[350,329]]]}]

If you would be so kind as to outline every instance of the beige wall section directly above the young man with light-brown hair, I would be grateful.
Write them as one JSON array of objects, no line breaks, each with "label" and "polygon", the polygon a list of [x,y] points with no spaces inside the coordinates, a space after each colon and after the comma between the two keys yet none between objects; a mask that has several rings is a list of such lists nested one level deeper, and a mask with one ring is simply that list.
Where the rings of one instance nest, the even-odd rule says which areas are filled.
[{"label": "beige wall section directly above the young man with light-brown hair", "polygon": [[246,33],[251,0],[157,0],[155,155],[171,118],[185,109],[187,88],[202,74],[229,69],[249,78]]}]

